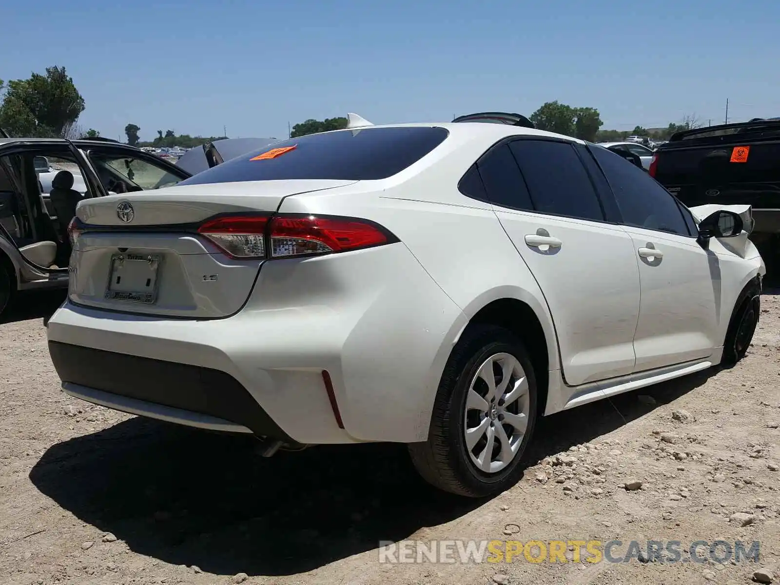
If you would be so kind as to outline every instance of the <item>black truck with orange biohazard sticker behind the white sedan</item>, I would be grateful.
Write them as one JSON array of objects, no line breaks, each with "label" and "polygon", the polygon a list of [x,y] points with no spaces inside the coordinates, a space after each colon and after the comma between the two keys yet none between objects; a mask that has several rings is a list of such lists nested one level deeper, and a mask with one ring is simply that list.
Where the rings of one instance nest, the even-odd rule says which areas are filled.
[{"label": "black truck with orange biohazard sticker behind the white sedan", "polygon": [[750,239],[780,275],[780,118],[676,133],[654,151],[649,172],[687,207],[753,207]]}]

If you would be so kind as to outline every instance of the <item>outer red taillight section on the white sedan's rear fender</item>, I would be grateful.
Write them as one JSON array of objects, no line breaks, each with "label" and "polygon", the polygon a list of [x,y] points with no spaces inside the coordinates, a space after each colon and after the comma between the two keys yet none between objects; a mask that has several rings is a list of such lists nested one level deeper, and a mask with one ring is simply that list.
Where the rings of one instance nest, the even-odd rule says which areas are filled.
[{"label": "outer red taillight section on the white sedan's rear fender", "polygon": [[271,257],[345,252],[388,243],[387,233],[371,222],[314,215],[271,219]]}]

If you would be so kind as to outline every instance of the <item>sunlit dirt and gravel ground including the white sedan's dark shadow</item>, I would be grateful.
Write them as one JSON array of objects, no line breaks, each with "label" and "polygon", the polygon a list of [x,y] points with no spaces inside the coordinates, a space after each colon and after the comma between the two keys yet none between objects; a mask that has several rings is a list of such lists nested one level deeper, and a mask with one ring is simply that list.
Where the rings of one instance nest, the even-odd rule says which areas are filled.
[{"label": "sunlit dirt and gravel ground including the white sedan's dark shadow", "polygon": [[[399,445],[260,459],[243,438],[69,399],[42,322],[59,300],[0,324],[2,583],[750,583],[780,568],[780,296],[734,369],[544,419],[524,479],[487,502],[427,488]],[[761,562],[378,562],[379,541],[410,538],[618,539],[618,557],[629,541],[760,541]]]}]

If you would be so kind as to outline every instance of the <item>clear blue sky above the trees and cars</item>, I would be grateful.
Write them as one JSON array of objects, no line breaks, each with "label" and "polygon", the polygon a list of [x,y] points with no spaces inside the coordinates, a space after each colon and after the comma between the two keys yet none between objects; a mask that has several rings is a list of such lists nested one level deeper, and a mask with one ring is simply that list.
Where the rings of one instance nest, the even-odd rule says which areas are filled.
[{"label": "clear blue sky above the trees and cars", "polygon": [[780,115],[776,0],[0,1],[0,78],[66,66],[79,123],[231,137],[357,112],[448,121],[544,101],[605,129]]}]

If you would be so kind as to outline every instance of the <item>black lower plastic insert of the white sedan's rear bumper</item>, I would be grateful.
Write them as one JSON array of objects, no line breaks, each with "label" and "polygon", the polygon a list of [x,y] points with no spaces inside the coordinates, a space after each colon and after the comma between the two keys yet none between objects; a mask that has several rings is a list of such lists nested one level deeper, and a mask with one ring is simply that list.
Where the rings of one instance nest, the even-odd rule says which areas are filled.
[{"label": "black lower plastic insert of the white sedan's rear bumper", "polygon": [[193,427],[295,442],[225,372],[69,343],[48,346],[63,388],[80,399]]}]

